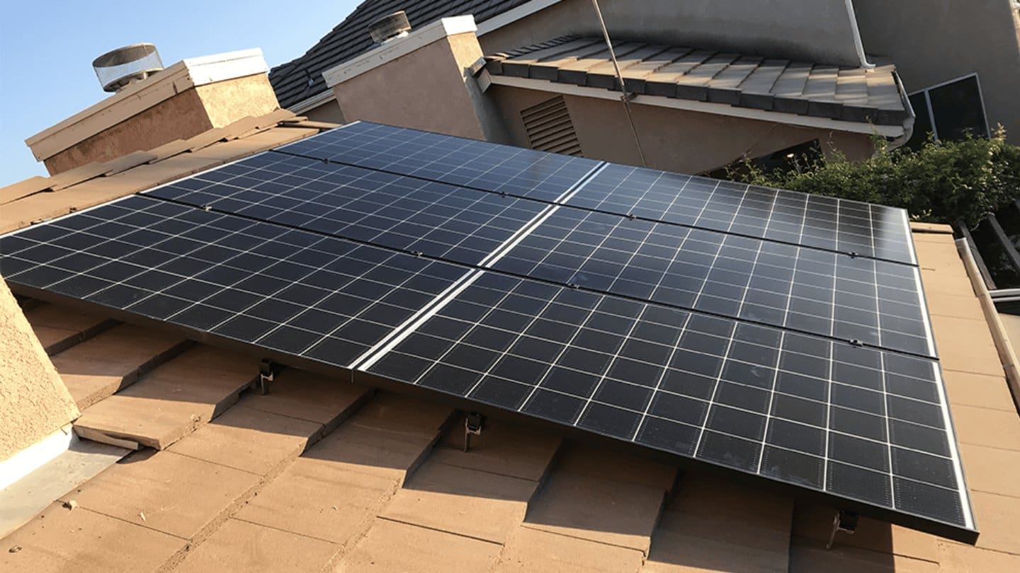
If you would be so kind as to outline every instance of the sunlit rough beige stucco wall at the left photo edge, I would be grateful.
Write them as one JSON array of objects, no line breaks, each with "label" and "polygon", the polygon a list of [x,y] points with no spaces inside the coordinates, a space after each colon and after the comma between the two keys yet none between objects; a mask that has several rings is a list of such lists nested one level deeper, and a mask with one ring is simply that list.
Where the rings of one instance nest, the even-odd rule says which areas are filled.
[{"label": "sunlit rough beige stucco wall at the left photo edge", "polygon": [[79,416],[78,407],[0,278],[0,461]]}]

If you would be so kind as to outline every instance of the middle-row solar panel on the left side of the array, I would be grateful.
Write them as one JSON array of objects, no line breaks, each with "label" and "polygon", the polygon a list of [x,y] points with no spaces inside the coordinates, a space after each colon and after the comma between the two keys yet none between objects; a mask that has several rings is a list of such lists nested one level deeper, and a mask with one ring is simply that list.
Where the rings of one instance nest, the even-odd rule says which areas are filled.
[{"label": "middle-row solar panel on the left side of the array", "polygon": [[546,207],[277,153],[148,195],[467,264],[484,259]]}]

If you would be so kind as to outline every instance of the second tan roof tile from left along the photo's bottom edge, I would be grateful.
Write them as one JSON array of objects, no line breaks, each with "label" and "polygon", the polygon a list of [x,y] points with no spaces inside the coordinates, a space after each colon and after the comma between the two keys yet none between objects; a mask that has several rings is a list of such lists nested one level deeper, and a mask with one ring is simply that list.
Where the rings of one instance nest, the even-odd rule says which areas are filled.
[{"label": "second tan roof tile from left along the photo's bottom edge", "polygon": [[338,546],[288,531],[231,519],[174,571],[181,573],[305,573],[319,571]]}]

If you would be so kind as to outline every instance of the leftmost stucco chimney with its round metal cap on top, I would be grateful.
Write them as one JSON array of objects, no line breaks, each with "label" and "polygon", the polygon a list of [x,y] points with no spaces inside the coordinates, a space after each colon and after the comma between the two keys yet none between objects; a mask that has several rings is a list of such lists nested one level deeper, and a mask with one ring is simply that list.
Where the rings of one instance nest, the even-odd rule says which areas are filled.
[{"label": "leftmost stucco chimney with its round metal cap on top", "polygon": [[113,95],[24,142],[51,175],[279,108],[257,48],[164,69],[155,46],[134,44],[99,56],[93,67]]}]

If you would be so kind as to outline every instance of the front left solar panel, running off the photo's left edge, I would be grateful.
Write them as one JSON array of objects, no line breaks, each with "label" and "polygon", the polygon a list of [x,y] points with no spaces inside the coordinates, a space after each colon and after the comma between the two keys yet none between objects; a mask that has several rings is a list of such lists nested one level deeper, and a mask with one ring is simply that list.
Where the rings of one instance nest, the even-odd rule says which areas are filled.
[{"label": "front left solar panel, running off the photo's left edge", "polygon": [[132,197],[0,239],[19,284],[345,366],[465,269]]}]

